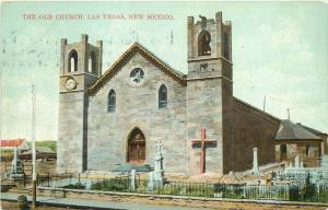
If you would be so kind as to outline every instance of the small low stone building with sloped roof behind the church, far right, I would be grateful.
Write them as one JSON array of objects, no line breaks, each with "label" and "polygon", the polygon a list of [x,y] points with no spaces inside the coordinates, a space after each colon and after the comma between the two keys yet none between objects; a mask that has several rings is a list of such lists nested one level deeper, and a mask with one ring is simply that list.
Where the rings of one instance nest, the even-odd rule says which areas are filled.
[{"label": "small low stone building with sloped roof behind the church, far right", "polygon": [[276,135],[277,162],[293,162],[298,154],[304,166],[312,167],[327,152],[327,133],[289,119],[281,120]]}]

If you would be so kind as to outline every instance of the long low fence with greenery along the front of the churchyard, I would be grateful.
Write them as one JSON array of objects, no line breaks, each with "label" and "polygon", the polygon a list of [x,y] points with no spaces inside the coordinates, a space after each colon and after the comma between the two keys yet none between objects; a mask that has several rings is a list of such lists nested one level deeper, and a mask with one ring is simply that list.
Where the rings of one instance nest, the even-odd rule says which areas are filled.
[{"label": "long low fence with greenery along the front of the churchyard", "polygon": [[37,185],[43,187],[98,191],[328,202],[328,184],[283,184],[271,186],[164,182],[164,185],[161,185],[160,183],[153,182],[153,187],[150,189],[149,180],[140,179],[139,176],[137,176],[134,182],[131,182],[127,175],[117,176],[115,178],[81,178],[79,175],[73,174],[39,174],[37,176]]}]

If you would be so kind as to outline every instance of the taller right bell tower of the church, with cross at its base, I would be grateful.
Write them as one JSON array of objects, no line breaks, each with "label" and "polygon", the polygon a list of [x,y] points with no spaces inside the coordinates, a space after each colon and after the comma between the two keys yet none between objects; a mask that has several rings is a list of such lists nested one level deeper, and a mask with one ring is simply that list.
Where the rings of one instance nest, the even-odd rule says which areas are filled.
[{"label": "taller right bell tower of the church, with cross at its base", "polygon": [[229,173],[233,170],[232,142],[232,45],[231,22],[222,22],[222,13],[215,19],[199,15],[188,18],[188,170],[199,172],[200,149],[190,147],[192,140],[206,129],[207,139],[216,142],[204,154],[204,171]]}]

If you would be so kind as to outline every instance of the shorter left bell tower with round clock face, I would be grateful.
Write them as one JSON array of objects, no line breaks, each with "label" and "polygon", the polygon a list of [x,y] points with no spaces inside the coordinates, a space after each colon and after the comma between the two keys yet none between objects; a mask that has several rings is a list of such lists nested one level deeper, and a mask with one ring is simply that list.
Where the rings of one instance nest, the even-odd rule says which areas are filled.
[{"label": "shorter left bell tower with round clock face", "polygon": [[87,168],[86,88],[102,75],[103,42],[96,46],[81,35],[80,43],[61,39],[59,73],[58,172],[83,172]]}]

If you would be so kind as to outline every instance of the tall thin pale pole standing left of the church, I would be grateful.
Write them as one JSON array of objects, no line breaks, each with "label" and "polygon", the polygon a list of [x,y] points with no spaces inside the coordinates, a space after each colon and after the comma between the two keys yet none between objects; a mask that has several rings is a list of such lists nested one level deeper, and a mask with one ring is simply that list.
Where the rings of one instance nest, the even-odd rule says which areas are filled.
[{"label": "tall thin pale pole standing left of the church", "polygon": [[32,132],[31,132],[31,140],[32,140],[32,165],[33,165],[33,173],[32,173],[32,209],[36,208],[36,154],[35,154],[35,106],[36,106],[36,94],[35,94],[35,85],[32,84]]}]

